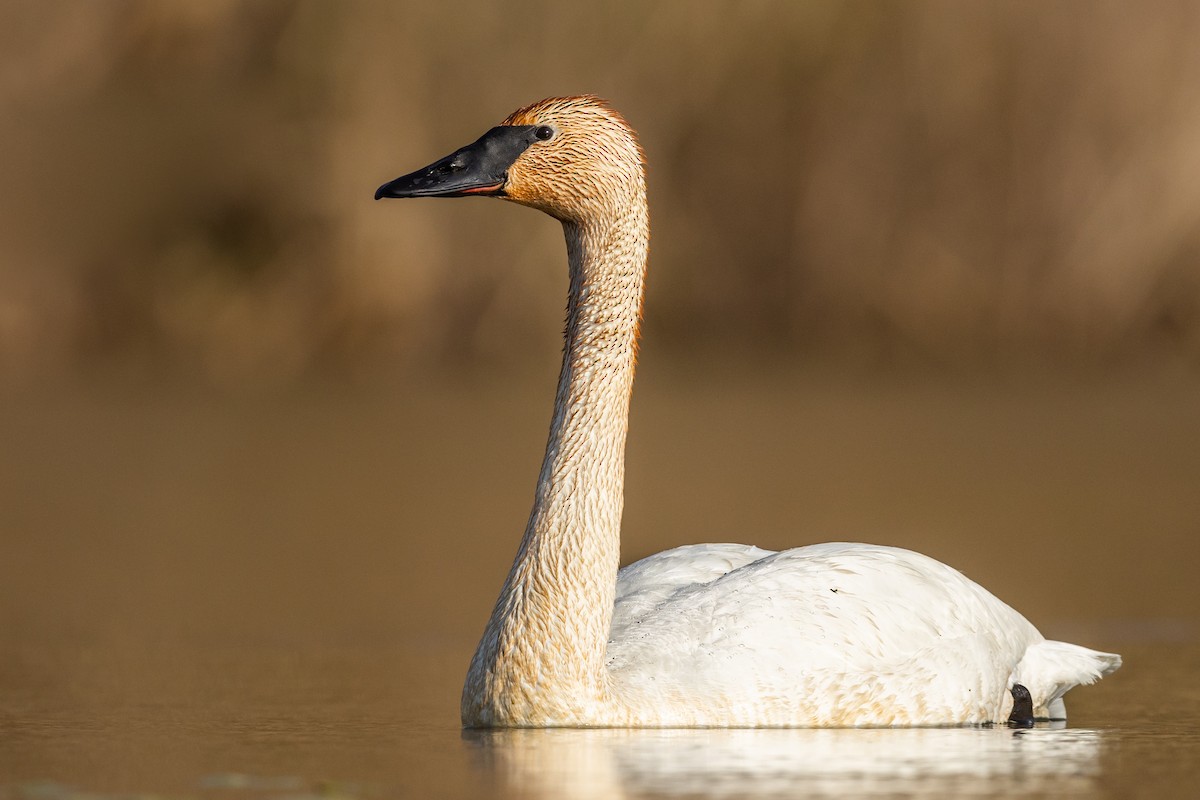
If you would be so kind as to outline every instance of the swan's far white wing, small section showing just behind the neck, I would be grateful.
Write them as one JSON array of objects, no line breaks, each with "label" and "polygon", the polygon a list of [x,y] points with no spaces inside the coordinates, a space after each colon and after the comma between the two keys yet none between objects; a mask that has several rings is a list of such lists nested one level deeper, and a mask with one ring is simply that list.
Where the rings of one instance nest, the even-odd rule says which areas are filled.
[{"label": "swan's far white wing, small section showing just behind the neck", "polygon": [[617,573],[612,637],[689,587],[707,584],[774,551],[751,545],[686,545],[635,561]]}]

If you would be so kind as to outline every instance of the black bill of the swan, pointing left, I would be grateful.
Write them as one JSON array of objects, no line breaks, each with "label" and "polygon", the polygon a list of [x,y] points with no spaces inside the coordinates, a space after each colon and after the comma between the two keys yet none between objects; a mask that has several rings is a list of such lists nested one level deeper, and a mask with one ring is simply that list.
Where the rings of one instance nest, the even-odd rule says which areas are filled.
[{"label": "black bill of the swan, pointing left", "polygon": [[384,197],[504,194],[509,167],[538,137],[536,125],[500,125],[473,144],[376,190]]}]

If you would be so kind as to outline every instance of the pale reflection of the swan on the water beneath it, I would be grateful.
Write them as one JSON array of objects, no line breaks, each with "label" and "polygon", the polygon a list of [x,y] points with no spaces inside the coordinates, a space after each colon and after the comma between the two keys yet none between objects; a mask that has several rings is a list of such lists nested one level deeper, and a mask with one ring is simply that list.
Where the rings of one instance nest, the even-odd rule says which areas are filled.
[{"label": "pale reflection of the swan on the water beneath it", "polygon": [[1098,730],[466,732],[479,768],[522,796],[989,796],[1096,789]]}]

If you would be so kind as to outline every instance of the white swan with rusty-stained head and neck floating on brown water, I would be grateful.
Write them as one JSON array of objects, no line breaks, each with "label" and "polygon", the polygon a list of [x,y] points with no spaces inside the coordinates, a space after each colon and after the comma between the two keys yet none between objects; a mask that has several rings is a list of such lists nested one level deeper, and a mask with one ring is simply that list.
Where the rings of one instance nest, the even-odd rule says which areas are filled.
[{"label": "white swan with rusty-stained head and neck floating on brown water", "polygon": [[1046,640],[895,547],[690,545],[619,567],[649,223],[634,130],[598,97],[521,108],[376,199],[498,197],[563,224],[565,350],[533,511],[470,662],[467,728],[847,727],[1064,718],[1120,656]]}]

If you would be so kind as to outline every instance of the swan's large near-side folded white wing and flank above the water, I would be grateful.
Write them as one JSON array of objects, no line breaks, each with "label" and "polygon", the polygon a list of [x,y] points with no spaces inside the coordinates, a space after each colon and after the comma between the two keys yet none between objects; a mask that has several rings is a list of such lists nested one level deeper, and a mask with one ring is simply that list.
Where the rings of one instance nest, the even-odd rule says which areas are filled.
[{"label": "swan's large near-side folded white wing and flank above the water", "polygon": [[[608,666],[631,704],[686,698],[670,703],[696,709],[680,724],[703,724],[706,710],[775,724],[994,721],[1010,708],[1013,669],[1042,640],[985,589],[918,553],[846,543],[743,553],[707,582],[655,591],[647,567],[636,593],[625,590],[636,602],[614,620]],[[667,569],[686,548],[665,555],[664,572],[686,572]]]}]

